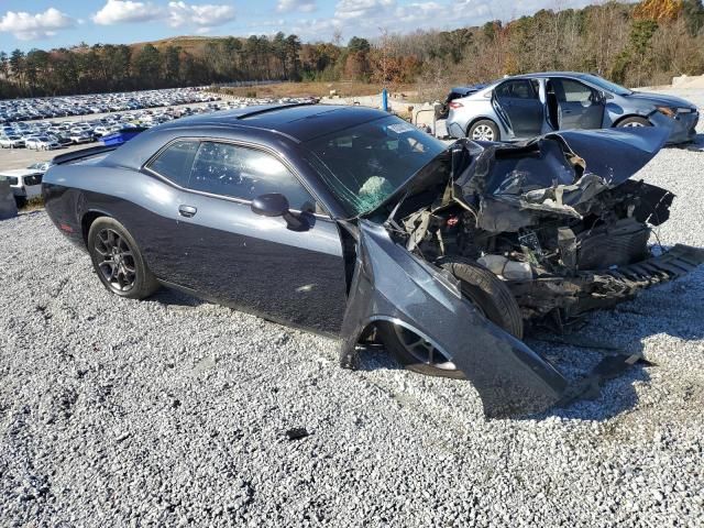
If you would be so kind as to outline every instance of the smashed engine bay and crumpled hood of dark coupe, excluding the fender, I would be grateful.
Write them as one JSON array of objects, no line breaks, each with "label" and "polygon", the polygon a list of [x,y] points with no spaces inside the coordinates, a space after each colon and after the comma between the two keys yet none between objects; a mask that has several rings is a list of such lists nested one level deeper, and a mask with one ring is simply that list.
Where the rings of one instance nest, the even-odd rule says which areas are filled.
[{"label": "smashed engine bay and crumpled hood of dark coupe, excluding the fender", "polygon": [[527,323],[561,328],[693,270],[701,251],[649,246],[674,196],[628,179],[657,148],[623,144],[614,152],[604,132],[603,148],[588,150],[569,132],[512,145],[459,141],[432,204],[414,210],[420,200],[409,198],[387,227],[428,262],[460,256],[488,268]]}]

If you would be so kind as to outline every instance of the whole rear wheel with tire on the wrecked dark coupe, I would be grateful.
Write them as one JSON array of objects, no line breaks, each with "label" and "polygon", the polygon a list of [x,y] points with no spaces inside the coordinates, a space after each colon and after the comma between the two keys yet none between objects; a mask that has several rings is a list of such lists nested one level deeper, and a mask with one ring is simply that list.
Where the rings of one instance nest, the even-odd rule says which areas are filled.
[{"label": "whole rear wheel with tire on the wrecked dark coupe", "polygon": [[102,285],[128,299],[144,299],[158,289],[130,232],[113,218],[101,217],[88,231],[88,253]]}]

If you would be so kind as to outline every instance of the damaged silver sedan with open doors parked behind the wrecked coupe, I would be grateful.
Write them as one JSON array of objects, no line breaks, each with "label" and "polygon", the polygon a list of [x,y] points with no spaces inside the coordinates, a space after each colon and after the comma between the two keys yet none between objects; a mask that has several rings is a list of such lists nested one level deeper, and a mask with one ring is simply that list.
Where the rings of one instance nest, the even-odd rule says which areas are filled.
[{"label": "damaged silver sedan with open doors parked behind the wrecked coupe", "polygon": [[664,127],[669,143],[683,143],[694,139],[698,121],[698,109],[684,99],[560,72],[507,77],[448,107],[450,135],[475,141],[515,141],[570,129]]}]

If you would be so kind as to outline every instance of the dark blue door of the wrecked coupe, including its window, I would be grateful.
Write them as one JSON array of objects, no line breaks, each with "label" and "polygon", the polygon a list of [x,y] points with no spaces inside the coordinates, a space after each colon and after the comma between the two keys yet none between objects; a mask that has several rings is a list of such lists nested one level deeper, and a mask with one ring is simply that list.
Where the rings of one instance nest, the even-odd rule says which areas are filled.
[{"label": "dark blue door of the wrecked coupe, including its window", "polygon": [[[251,209],[278,193],[307,229]],[[316,206],[276,155],[202,141],[182,194],[174,243],[183,249],[183,286],[264,318],[320,333],[340,330],[346,306],[338,226]]]}]

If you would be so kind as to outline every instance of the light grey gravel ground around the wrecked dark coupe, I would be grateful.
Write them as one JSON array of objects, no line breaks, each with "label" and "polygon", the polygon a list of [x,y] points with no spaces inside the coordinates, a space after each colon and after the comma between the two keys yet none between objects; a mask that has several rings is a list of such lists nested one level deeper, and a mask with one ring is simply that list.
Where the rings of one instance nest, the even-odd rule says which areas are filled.
[{"label": "light grey gravel ground around the wrecked dark coupe", "polygon": [[[704,153],[644,172],[704,245]],[[465,382],[170,292],[110,296],[43,212],[0,222],[2,526],[704,525],[704,267],[573,338],[656,366],[485,421]],[[595,351],[529,343],[561,367]],[[288,440],[304,427],[307,438]]]}]

